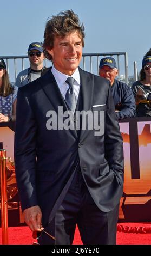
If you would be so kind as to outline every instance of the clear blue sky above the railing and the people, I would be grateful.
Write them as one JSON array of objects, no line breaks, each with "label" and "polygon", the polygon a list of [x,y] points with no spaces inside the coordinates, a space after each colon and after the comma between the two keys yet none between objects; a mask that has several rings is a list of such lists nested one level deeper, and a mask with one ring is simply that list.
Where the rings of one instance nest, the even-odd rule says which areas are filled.
[{"label": "clear blue sky above the railing and the people", "polygon": [[128,71],[141,69],[151,48],[151,1],[140,0],[7,0],[1,1],[0,56],[25,55],[30,42],[43,41],[48,17],[73,9],[86,32],[83,53],[128,52]]}]

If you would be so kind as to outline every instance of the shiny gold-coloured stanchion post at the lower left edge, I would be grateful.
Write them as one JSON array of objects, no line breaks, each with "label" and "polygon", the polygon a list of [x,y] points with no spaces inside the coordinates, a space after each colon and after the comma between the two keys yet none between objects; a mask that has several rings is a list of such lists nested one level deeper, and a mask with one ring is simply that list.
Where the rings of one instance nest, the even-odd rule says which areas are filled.
[{"label": "shiny gold-coloured stanchion post at the lower left edge", "polygon": [[6,150],[0,150],[0,178],[1,178],[1,222],[2,245],[8,245],[8,199],[6,176]]}]

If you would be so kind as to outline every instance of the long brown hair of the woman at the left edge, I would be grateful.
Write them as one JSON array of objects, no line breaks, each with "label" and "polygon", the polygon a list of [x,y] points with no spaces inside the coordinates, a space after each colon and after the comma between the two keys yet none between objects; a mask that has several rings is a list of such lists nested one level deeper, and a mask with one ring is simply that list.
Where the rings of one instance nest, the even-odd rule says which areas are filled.
[{"label": "long brown hair of the woman at the left edge", "polygon": [[0,87],[0,96],[6,97],[14,92],[11,87],[8,71],[5,69],[5,74],[3,75],[2,86]]}]

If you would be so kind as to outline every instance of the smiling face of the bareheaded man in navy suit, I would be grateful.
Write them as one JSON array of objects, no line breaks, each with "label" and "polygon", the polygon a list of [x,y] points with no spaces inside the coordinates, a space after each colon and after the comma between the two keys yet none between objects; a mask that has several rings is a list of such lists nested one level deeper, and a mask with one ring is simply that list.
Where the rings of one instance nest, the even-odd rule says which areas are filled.
[{"label": "smiling face of the bareheaded man in navy suit", "polygon": [[55,68],[71,76],[82,58],[82,42],[77,31],[64,38],[55,37],[52,49],[47,49],[52,56]]}]

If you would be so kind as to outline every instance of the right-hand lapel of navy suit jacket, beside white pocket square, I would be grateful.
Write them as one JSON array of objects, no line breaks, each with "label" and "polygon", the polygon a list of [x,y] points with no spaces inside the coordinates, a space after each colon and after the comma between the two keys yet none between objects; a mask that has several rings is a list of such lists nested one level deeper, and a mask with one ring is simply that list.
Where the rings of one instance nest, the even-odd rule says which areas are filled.
[{"label": "right-hand lapel of navy suit jacket, beside white pocket square", "polygon": [[[78,68],[80,72],[80,83],[82,89],[82,98],[83,98],[83,110],[88,111],[92,110],[92,101],[93,101],[93,87],[94,87],[94,79],[93,75],[90,73],[83,71],[81,68]],[[89,75],[88,75],[89,74]],[[88,129],[88,118],[86,122],[86,127]],[[80,139],[86,134],[85,130],[81,130]]]}]

